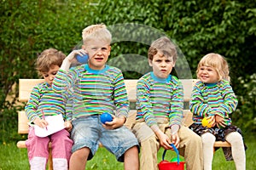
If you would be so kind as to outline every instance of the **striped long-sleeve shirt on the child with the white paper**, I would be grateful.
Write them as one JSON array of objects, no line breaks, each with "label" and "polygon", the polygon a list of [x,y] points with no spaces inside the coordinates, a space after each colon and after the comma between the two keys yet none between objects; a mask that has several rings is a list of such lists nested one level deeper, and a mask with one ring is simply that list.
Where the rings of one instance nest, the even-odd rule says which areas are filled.
[{"label": "striped long-sleeve shirt on the child with the white paper", "polygon": [[32,93],[25,106],[26,116],[29,122],[33,122],[37,117],[53,116],[62,114],[64,120],[70,120],[71,116],[66,115],[65,105],[67,93],[56,94],[47,82],[39,83],[32,88]]}]

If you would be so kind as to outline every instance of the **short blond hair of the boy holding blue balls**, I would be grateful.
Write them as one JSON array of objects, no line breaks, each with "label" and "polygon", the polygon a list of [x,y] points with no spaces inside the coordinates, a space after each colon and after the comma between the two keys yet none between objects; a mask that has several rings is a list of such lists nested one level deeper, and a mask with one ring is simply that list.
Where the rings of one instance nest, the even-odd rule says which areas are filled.
[{"label": "short blond hair of the boy holding blue balls", "polygon": [[108,42],[108,44],[110,44],[112,40],[112,35],[110,31],[108,31],[107,26],[104,24],[87,26],[82,31],[82,37],[84,45],[86,44],[86,42],[95,39],[102,42]]}]

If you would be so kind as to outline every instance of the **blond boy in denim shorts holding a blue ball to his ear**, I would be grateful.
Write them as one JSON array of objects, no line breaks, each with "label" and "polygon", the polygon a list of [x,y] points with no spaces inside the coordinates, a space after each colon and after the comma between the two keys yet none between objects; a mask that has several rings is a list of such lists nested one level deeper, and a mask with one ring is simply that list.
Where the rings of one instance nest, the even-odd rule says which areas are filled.
[{"label": "blond boy in denim shorts holding a blue ball to his ear", "polygon": [[[70,170],[83,169],[98,149],[99,142],[112,152],[125,169],[138,169],[138,142],[123,126],[128,116],[129,101],[122,72],[106,65],[111,50],[111,33],[103,24],[83,30],[82,49],[64,59],[55,77],[55,91],[73,88],[73,155]],[[88,54],[88,64],[69,69],[76,54]],[[102,124],[100,116],[108,112],[112,122]]]}]

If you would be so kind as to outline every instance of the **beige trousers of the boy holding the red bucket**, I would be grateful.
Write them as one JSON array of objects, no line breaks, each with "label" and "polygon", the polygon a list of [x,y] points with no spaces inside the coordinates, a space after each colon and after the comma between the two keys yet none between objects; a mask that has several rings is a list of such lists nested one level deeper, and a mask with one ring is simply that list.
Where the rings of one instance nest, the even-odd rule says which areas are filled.
[{"label": "beige trousers of the boy holding the red bucket", "polygon": [[[171,138],[171,129],[167,120],[158,120],[160,130]],[[137,121],[132,127],[132,132],[137,136],[141,144],[140,169],[157,170],[157,152],[160,143],[150,127],[145,122]],[[201,137],[191,131],[189,127],[180,127],[178,131],[180,138],[179,155],[184,157],[187,170],[203,169],[203,155]]]}]

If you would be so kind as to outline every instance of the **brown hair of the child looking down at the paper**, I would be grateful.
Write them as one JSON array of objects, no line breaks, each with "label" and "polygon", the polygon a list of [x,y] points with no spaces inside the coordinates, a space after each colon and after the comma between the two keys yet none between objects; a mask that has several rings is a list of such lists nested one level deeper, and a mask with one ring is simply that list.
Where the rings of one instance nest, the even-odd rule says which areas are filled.
[{"label": "brown hair of the child looking down at the paper", "polygon": [[36,60],[36,69],[38,75],[42,76],[43,72],[48,72],[52,65],[58,65],[61,67],[62,61],[66,58],[66,55],[55,48],[45,49],[39,54]]}]

